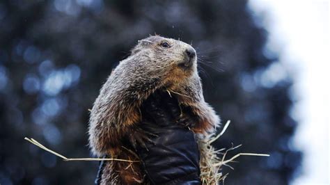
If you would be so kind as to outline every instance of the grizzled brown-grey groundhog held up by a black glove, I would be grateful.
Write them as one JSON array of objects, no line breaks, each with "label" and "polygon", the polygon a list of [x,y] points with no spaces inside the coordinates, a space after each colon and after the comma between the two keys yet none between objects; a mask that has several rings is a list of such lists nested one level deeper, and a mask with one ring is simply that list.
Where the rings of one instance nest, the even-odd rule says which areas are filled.
[{"label": "grizzled brown-grey groundhog held up by a black glove", "polygon": [[[95,100],[89,122],[93,154],[139,161],[123,140],[139,136],[141,104],[156,90],[166,90],[198,118],[187,125],[200,136],[213,133],[219,116],[203,97],[196,51],[180,40],[159,35],[139,40],[120,61]],[[140,163],[107,161],[101,184],[147,184]]]}]

